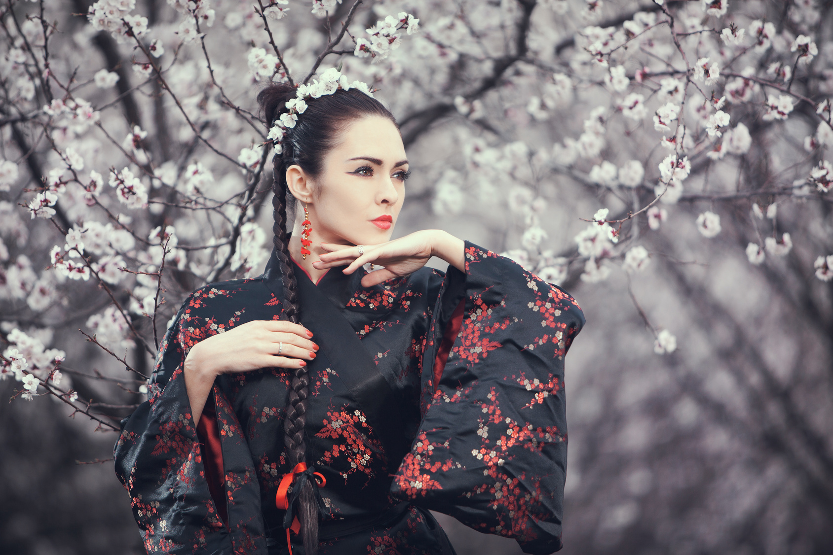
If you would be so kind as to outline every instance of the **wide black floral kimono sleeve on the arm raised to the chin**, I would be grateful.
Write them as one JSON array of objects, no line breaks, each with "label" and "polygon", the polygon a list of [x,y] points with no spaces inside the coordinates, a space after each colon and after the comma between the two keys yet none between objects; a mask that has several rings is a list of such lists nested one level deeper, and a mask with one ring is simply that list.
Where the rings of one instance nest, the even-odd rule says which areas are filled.
[{"label": "wide black floral kimono sleeve on the arm raised to the chin", "polygon": [[449,266],[431,320],[423,417],[393,495],[516,538],[524,553],[561,549],[564,357],[581,308],[466,241],[466,272]]}]

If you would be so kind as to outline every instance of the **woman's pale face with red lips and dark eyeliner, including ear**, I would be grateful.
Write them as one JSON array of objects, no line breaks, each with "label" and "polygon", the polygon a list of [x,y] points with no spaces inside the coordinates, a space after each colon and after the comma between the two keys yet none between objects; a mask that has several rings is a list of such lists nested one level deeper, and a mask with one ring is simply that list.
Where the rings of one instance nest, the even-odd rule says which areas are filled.
[{"label": "woman's pale face with red lips and dark eyeliner, including ear", "polygon": [[[287,168],[292,195],[307,201],[311,250],[320,252],[322,242],[376,245],[390,240],[405,200],[407,170],[402,137],[382,116],[352,121],[324,157],[314,182],[300,166]],[[299,208],[297,216],[303,216]],[[302,219],[296,218],[293,236],[300,233]]]}]

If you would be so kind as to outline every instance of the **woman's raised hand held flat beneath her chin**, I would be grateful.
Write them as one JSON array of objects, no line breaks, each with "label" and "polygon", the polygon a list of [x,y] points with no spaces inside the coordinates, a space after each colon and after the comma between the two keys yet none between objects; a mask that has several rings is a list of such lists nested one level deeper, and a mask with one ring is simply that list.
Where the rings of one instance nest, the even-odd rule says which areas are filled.
[{"label": "woman's raised hand held flat beneath her chin", "polygon": [[362,287],[411,274],[426,265],[431,256],[438,256],[458,270],[466,271],[465,243],[442,230],[420,230],[378,245],[362,245],[363,255],[354,245],[322,243],[321,246],[330,252],[312,263],[318,270],[347,264],[343,271],[351,274],[367,262],[384,266],[364,276]]}]

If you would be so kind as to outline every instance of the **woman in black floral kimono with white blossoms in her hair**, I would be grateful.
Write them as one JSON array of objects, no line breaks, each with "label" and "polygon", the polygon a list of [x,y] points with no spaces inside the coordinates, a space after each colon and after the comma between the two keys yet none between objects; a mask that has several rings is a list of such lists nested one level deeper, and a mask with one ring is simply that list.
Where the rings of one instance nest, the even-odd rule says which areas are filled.
[{"label": "woman in black floral kimono with white blossoms in her hair", "polygon": [[575,300],[440,230],[390,240],[408,162],[361,83],[258,101],[272,259],[185,301],[115,448],[148,553],[454,553],[428,509],[560,549]]}]

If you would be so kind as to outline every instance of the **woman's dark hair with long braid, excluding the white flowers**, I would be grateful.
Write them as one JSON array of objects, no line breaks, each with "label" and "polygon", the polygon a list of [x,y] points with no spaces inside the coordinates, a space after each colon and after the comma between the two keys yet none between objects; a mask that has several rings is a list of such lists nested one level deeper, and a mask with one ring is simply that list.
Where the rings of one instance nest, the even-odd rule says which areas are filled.
[{"label": "woman's dark hair with long braid, excluding the white flowers", "polygon": [[[257,94],[267,128],[281,115],[287,101],[295,97],[297,89],[287,83],[272,83]],[[382,103],[362,91],[351,88],[318,98],[307,99],[307,109],[298,115],[295,126],[287,129],[282,142],[282,154],[272,158],[274,185],[272,191],[272,217],[275,224],[274,244],[283,282],[284,311],[287,318],[298,323],[298,290],[292,260],[287,245],[287,198],[292,193],[287,187],[287,167],[301,166],[312,178],[320,176],[324,156],[341,141],[342,132],[352,121],[363,116],[387,117],[397,125],[393,114]],[[397,129],[399,126],[397,125]],[[309,376],[307,366],[295,370],[287,398],[287,412],[283,419],[283,440],[287,447],[289,468],[306,462],[307,444],[304,426],[307,423],[307,396]],[[298,519],[307,555],[316,555],[318,548],[318,508],[311,481],[302,482]]]}]

